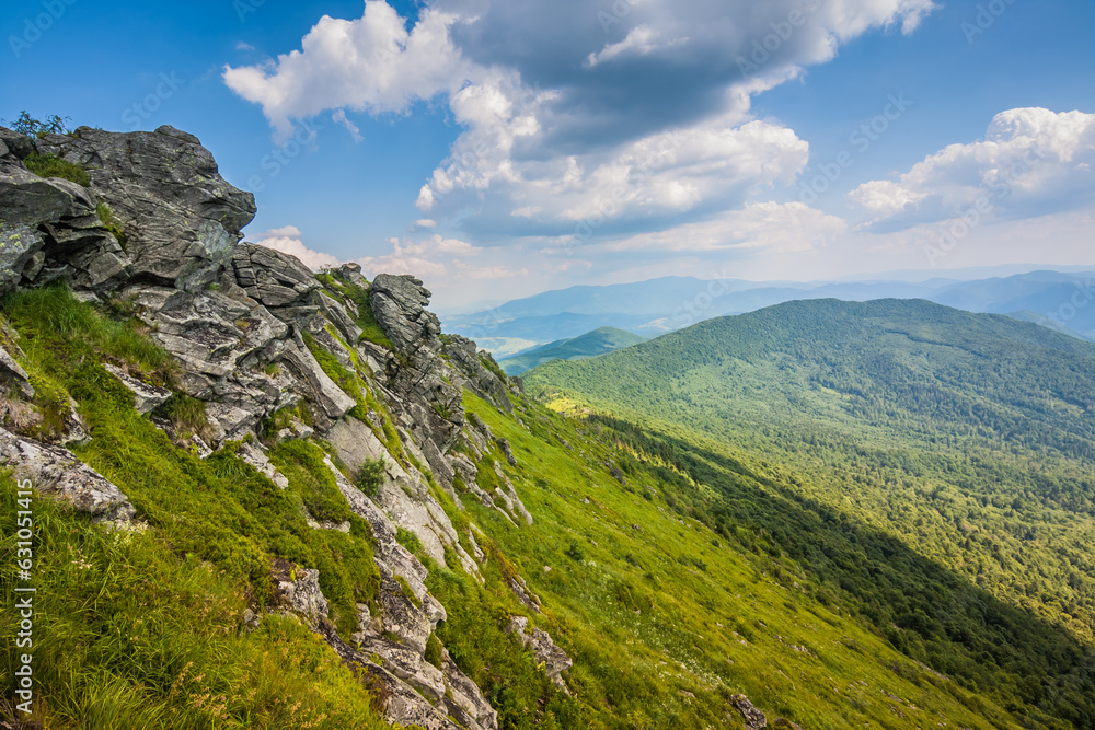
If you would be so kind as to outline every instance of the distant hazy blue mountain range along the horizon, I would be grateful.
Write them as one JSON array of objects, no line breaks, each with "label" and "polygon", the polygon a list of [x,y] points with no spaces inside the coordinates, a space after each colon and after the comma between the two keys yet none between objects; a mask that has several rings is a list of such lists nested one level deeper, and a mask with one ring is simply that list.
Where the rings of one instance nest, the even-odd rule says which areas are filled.
[{"label": "distant hazy blue mountain range along the horizon", "polygon": [[[973,271],[971,271],[973,273]],[[926,299],[971,312],[1007,314],[1029,310],[1081,336],[1095,331],[1095,293],[1090,271],[1028,271],[1006,278],[960,281],[937,277],[921,281],[750,282],[685,277],[631,285],[572,287],[507,302],[493,310],[446,318],[451,331],[473,337],[492,351],[519,341],[543,344],[575,337],[598,326],[613,326],[654,337],[702,320],[752,312],[787,301],[883,298]]]}]

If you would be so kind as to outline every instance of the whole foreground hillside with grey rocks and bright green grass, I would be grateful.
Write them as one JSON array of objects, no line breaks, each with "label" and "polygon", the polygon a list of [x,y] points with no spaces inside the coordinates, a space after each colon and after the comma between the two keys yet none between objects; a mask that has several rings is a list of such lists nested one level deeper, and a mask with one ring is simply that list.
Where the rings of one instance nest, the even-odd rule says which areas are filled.
[{"label": "whole foreground hillside with grey rocks and bright green grass", "polygon": [[[240,242],[254,212],[171,127],[0,128],[0,621],[34,605],[3,725],[1067,727],[902,653],[781,545],[823,513],[766,467],[733,465],[766,519],[712,521],[691,465],[526,397],[420,281],[314,275]],[[1056,628],[966,590],[1058,692]]]}]

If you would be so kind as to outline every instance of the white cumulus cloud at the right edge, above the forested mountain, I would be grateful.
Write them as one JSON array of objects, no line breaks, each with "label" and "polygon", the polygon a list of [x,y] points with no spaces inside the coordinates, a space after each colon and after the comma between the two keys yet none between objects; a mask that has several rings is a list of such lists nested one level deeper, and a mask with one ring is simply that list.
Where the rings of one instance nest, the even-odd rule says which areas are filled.
[{"label": "white cumulus cloud at the right edge, above the forested mountain", "polygon": [[980,215],[1029,218],[1067,210],[1095,192],[1095,114],[1044,108],[1002,112],[983,140],[950,144],[897,179],[849,194],[867,223],[901,230]]}]

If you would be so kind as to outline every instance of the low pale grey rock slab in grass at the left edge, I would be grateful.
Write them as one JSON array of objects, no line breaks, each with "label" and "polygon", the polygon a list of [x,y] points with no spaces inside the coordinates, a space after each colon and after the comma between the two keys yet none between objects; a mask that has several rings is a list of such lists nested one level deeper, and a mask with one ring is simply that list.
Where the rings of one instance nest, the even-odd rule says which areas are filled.
[{"label": "low pale grey rock slab in grass at the left edge", "polygon": [[70,502],[94,522],[128,525],[136,513],[120,489],[67,449],[0,429],[0,463],[16,479],[30,479],[35,491]]}]

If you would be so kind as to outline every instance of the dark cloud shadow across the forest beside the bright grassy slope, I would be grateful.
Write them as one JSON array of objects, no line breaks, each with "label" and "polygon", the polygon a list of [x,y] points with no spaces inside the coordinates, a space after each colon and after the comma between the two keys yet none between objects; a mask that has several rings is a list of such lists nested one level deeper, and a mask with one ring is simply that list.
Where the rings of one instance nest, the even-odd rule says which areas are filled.
[{"label": "dark cloud shadow across the forest beside the bright grassy slope", "polygon": [[[795,560],[826,587],[815,598],[858,614],[910,658],[1011,711],[1034,706],[1077,729],[1095,730],[1095,647],[1068,629],[1002,602],[901,540],[731,457],[626,421],[595,420],[721,495],[694,508],[692,517],[746,549]],[[672,480],[673,473],[665,470],[661,476]],[[677,486],[691,488],[679,477]]]}]

